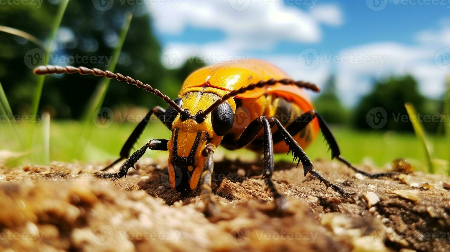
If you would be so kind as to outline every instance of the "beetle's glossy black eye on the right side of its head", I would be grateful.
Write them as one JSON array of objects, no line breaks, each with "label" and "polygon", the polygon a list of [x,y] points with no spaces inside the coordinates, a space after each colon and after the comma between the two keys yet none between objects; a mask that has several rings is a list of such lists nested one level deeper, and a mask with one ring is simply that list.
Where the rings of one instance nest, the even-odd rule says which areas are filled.
[{"label": "beetle's glossy black eye on the right side of its head", "polygon": [[234,122],[233,108],[228,103],[221,103],[211,112],[212,129],[217,135],[225,135]]}]

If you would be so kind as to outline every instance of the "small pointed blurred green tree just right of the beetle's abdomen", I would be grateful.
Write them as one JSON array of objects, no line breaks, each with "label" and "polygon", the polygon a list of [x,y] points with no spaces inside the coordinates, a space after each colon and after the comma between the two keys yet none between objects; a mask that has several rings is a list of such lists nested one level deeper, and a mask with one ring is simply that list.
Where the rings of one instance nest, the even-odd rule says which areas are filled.
[{"label": "small pointed blurred green tree just right of the beetle's abdomen", "polygon": [[324,88],[314,100],[315,109],[328,124],[345,124],[348,122],[349,111],[336,94],[336,77],[330,76]]}]

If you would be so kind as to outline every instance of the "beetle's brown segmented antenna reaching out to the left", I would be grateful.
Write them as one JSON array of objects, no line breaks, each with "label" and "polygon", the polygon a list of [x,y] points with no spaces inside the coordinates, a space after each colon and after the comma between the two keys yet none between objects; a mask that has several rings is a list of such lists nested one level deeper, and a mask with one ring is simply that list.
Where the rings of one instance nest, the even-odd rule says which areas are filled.
[{"label": "beetle's brown segmented antenna reaching out to the left", "polygon": [[181,108],[177,103],[175,103],[172,99],[170,99],[167,95],[162,94],[161,91],[154,89],[151,85],[144,84],[141,81],[135,81],[130,76],[123,76],[120,73],[113,73],[108,70],[102,71],[97,68],[87,68],[87,67],[72,67],[72,66],[52,66],[52,65],[46,65],[46,66],[40,66],[34,69],[34,73],[37,75],[43,75],[43,74],[61,74],[61,73],[80,73],[82,75],[88,75],[88,74],[94,74],[95,76],[105,76],[108,79],[117,79],[117,81],[126,81],[126,83],[131,85],[136,85],[139,88],[145,89],[150,93],[155,94],[157,97],[162,98],[166,103],[169,103],[169,105],[172,106],[176,110],[176,112],[179,112],[182,117],[188,118],[192,117],[188,110],[185,110],[184,108]]}]

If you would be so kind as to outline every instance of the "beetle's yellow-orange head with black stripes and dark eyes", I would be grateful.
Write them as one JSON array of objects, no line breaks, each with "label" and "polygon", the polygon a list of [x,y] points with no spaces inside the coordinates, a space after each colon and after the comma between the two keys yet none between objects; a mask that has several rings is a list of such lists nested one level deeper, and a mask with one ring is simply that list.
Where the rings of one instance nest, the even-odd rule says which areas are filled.
[{"label": "beetle's yellow-orange head with black stripes and dark eyes", "polygon": [[206,110],[223,96],[221,90],[207,90],[187,90],[174,100],[180,107],[189,111],[190,117],[183,118],[183,115],[171,106],[167,107],[164,116],[167,128],[172,131],[168,143],[169,181],[172,189],[181,192],[197,187],[205,161],[202,155],[205,145],[211,143],[218,146],[222,137],[233,126],[236,105],[232,98],[221,103],[202,120],[196,120],[195,115],[198,112]]}]

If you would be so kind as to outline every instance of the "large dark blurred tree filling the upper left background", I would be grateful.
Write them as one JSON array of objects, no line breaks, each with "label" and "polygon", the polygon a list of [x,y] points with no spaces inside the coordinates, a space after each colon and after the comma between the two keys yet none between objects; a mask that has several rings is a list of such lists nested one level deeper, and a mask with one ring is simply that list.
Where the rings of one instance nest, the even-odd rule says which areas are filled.
[{"label": "large dark blurred tree filling the upper left background", "polygon": [[[14,27],[45,41],[57,4],[58,0],[44,0],[39,8],[24,4],[2,5],[0,25]],[[126,12],[132,12],[133,19],[116,72],[148,83],[171,97],[176,96],[187,76],[186,72],[193,67],[189,63],[176,70],[167,70],[162,66],[161,47],[153,36],[151,18],[147,8],[138,4],[117,1],[111,9],[100,11],[92,2],[70,1],[56,37],[50,64],[106,69],[112,58],[112,50],[118,43]],[[36,88],[32,67],[26,66],[27,54],[39,47],[18,36],[0,32],[0,48],[0,80],[13,111],[25,113]],[[101,77],[75,74],[47,76],[40,112],[49,111],[57,118],[80,118],[99,81]],[[144,90],[112,81],[103,107],[122,105],[166,107],[164,102]]]}]

